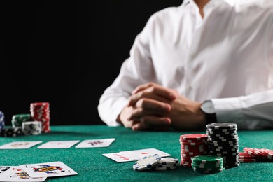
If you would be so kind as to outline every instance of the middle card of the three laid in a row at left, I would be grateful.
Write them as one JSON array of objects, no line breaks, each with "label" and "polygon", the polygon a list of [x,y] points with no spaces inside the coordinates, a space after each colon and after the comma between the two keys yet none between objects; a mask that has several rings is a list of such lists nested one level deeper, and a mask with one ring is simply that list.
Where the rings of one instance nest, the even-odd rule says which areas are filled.
[{"label": "middle card of the three laid in a row at left", "polygon": [[48,141],[47,143],[38,146],[37,148],[71,148],[71,146],[77,144],[79,140],[69,141]]}]

